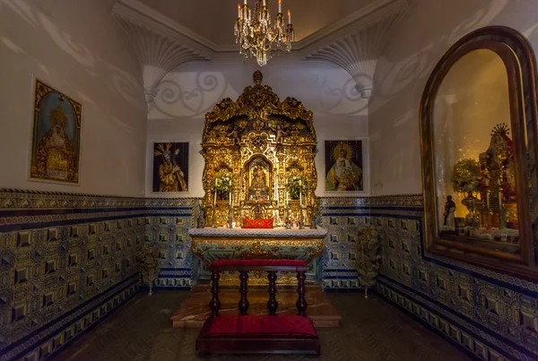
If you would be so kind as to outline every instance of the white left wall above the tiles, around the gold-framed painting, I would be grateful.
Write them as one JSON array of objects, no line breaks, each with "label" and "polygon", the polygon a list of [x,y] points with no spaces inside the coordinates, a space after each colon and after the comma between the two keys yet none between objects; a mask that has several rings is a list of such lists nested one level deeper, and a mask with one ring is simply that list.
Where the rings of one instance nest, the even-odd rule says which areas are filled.
[{"label": "white left wall above the tiles, around the gold-framed painting", "polygon": [[[143,195],[147,107],[113,3],[0,2],[0,187]],[[28,181],[34,77],[82,103],[78,186]]]}]

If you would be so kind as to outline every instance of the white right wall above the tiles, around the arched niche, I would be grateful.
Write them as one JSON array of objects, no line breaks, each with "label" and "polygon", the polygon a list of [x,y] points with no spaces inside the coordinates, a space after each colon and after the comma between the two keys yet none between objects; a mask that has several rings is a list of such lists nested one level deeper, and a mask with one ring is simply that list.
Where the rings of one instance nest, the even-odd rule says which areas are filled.
[{"label": "white right wall above the tiles, around the arched niche", "polygon": [[419,108],[431,71],[468,32],[488,25],[521,31],[538,48],[534,0],[412,0],[377,63],[369,103],[372,193],[421,193]]}]

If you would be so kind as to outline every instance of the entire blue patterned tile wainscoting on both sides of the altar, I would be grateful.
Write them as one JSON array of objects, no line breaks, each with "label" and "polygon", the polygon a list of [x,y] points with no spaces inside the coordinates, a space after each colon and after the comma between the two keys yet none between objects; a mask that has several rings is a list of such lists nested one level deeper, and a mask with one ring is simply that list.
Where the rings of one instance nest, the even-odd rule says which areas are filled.
[{"label": "entire blue patterned tile wainscoting on both sides of the altar", "polygon": [[[143,247],[158,249],[156,288],[190,288],[198,202],[0,190],[0,361],[46,359],[133,297]],[[374,222],[379,295],[474,357],[538,359],[538,285],[425,254],[421,195],[319,202],[326,291],[360,289],[358,232]]]}]

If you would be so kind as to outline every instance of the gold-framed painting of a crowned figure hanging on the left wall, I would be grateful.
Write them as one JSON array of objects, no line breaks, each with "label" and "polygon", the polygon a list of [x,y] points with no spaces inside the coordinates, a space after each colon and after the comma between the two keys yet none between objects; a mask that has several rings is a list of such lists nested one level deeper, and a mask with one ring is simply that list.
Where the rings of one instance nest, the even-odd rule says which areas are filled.
[{"label": "gold-framed painting of a crowned figure hanging on the left wall", "polygon": [[35,81],[30,180],[79,184],[82,105]]}]

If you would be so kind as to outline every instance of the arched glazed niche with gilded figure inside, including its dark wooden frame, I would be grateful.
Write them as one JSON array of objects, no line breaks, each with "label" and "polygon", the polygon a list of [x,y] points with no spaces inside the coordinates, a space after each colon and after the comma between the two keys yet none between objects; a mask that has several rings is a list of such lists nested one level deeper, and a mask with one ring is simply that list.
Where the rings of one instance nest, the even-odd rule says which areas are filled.
[{"label": "arched glazed niche with gilded figure inside, including its dark wooden frame", "polygon": [[475,30],[421,102],[427,252],[538,279],[536,69],[523,35]]}]

